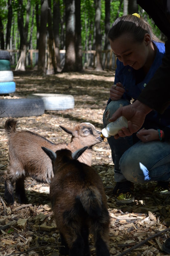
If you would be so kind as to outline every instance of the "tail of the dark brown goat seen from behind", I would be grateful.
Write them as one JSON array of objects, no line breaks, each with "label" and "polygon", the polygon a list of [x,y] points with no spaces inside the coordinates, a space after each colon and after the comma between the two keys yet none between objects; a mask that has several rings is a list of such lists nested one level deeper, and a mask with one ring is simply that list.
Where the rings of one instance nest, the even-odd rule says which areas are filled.
[{"label": "tail of the dark brown goat seen from behind", "polygon": [[102,215],[102,197],[96,187],[84,188],[79,195],[80,202],[84,210],[91,217],[100,217]]}]

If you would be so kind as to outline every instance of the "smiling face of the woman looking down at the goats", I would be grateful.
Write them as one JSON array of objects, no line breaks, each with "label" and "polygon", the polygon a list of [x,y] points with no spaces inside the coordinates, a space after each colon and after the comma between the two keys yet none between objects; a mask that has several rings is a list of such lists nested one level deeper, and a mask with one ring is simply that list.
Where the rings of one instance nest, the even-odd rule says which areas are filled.
[{"label": "smiling face of the woman looking down at the goats", "polygon": [[150,42],[149,34],[145,34],[143,42],[138,43],[134,41],[133,35],[127,33],[119,36],[113,42],[110,40],[110,45],[124,66],[129,65],[137,70],[147,66],[150,62],[150,47],[148,47]]}]

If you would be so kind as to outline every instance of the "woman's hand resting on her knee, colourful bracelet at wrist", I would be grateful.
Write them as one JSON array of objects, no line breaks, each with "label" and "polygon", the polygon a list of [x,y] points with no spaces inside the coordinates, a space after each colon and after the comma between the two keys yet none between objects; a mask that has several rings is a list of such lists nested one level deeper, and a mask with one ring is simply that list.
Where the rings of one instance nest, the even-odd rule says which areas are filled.
[{"label": "woman's hand resting on her knee, colourful bracelet at wrist", "polygon": [[[155,129],[141,129],[139,132],[137,132],[136,136],[143,142],[146,143],[148,141],[153,140],[160,140],[158,131]],[[164,132],[163,132],[164,137]]]}]

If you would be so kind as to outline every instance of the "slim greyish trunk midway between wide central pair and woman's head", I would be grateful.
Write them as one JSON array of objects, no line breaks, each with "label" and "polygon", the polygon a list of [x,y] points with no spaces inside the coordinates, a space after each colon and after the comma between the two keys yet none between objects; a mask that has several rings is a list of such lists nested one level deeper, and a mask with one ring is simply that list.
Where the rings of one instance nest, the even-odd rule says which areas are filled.
[{"label": "slim greyish trunk midway between wide central pair and woman's head", "polygon": [[103,70],[100,19],[101,19],[101,0],[95,0],[96,57],[97,57],[95,70]]}]

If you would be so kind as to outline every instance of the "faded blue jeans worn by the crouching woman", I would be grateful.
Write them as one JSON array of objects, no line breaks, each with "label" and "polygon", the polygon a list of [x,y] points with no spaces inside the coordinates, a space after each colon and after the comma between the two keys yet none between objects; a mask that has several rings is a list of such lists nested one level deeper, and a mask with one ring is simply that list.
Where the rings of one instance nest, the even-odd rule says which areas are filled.
[{"label": "faded blue jeans worn by the crouching woman", "polygon": [[[103,114],[104,127],[109,118],[120,107],[129,105],[125,99],[111,101]],[[135,135],[133,135],[135,136]],[[107,139],[112,151],[114,179],[116,182],[126,180],[134,183],[150,181],[170,181],[170,142],[150,141],[133,142],[133,136]]]}]

